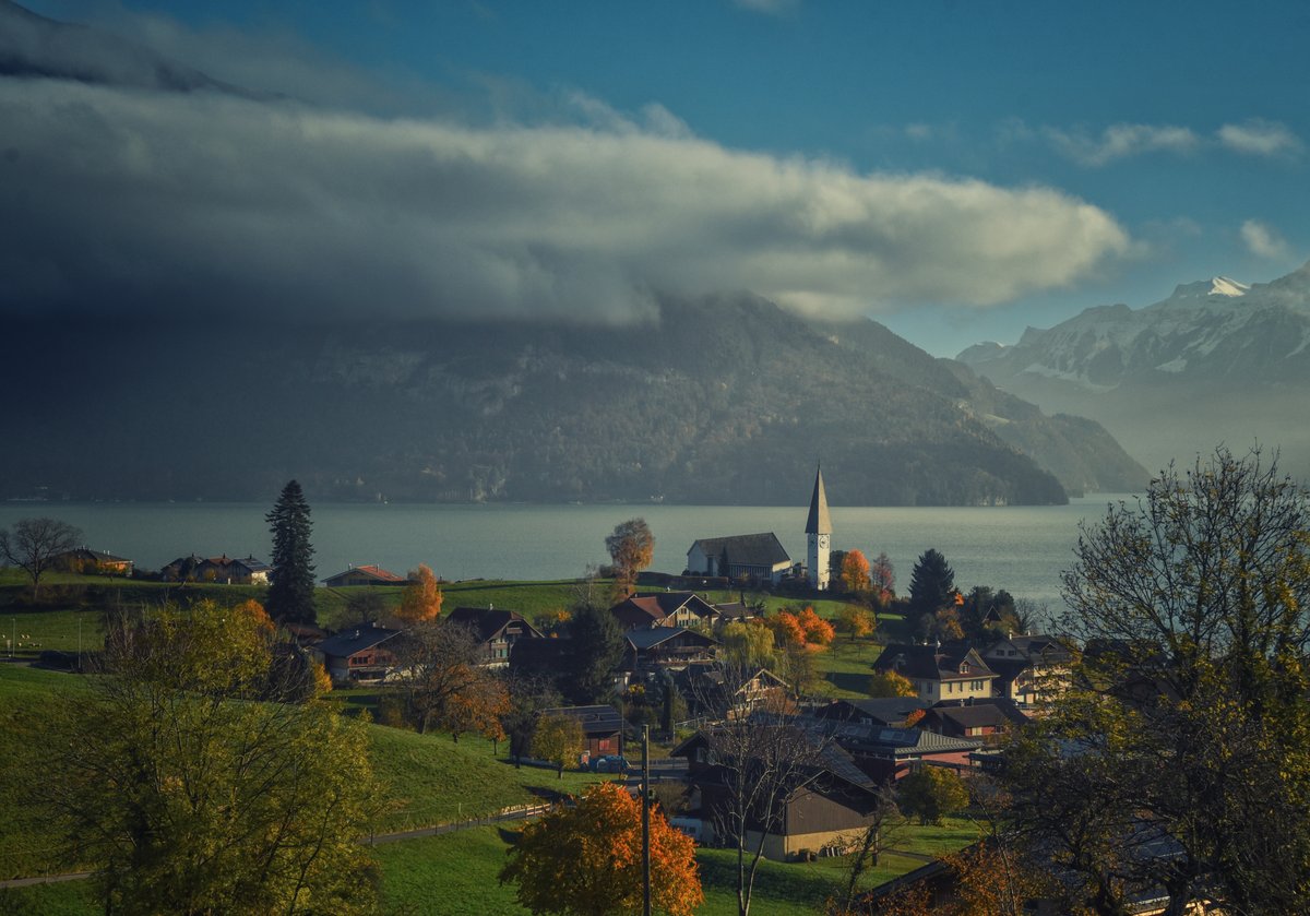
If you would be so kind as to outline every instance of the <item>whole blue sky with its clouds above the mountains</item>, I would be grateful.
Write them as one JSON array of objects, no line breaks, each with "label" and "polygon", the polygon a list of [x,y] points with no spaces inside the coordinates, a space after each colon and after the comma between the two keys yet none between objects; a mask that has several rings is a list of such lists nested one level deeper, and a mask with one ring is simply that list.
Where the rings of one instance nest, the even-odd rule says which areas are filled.
[{"label": "whole blue sky with its clouds above the mountains", "polygon": [[622,324],[749,290],[948,356],[1310,258],[1302,3],[25,5],[123,41],[0,8],[8,312]]}]

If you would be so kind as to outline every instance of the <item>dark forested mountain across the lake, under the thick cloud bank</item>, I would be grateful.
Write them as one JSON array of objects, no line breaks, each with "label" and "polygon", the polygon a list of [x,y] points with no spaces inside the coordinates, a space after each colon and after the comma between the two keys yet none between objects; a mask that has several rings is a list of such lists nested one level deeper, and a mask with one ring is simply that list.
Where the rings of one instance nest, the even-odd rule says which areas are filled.
[{"label": "dark forested mountain across the lake, under the thick cloud bank", "polygon": [[4,497],[269,499],[296,477],[320,499],[795,505],[823,460],[836,505],[1040,505],[1065,490],[1009,425],[1104,447],[1013,398],[981,404],[980,383],[880,325],[820,328],[747,294],[665,299],[635,328],[10,330],[25,346],[0,385],[26,396],[5,418]]}]

